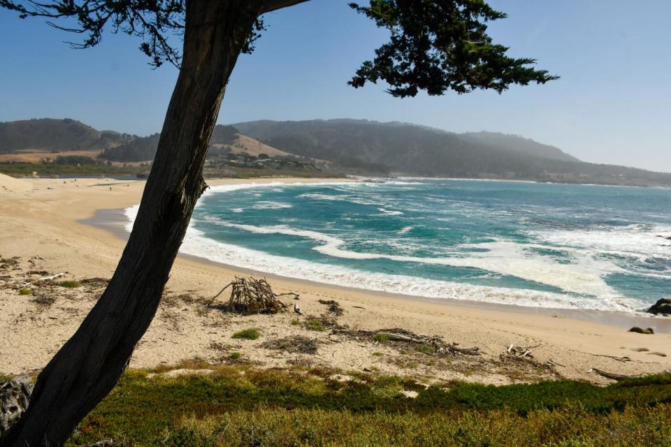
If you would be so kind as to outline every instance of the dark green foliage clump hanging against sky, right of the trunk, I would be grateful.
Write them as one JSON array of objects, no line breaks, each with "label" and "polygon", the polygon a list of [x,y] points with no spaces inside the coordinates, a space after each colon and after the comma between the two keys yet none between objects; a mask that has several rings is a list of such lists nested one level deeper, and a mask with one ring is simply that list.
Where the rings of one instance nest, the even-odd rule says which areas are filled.
[{"label": "dark green foliage clump hanging against sky, right of the trunk", "polygon": [[482,0],[370,0],[370,6],[352,8],[389,29],[389,43],[375,50],[349,81],[353,87],[384,80],[389,93],[416,96],[447,91],[459,94],[475,89],[501,93],[511,84],[544,84],[557,79],[530,65],[534,59],[507,57],[508,48],[494,44],[486,34],[487,22],[506,17]]}]

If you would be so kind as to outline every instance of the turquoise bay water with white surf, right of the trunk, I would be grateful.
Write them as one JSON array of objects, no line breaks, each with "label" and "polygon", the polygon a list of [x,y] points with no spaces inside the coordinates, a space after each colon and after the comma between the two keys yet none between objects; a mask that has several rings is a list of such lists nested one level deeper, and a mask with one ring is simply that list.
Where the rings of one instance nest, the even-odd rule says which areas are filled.
[{"label": "turquoise bay water with white surf, right of the trunk", "polygon": [[381,179],[214,187],[182,251],[378,291],[635,312],[671,295],[667,236],[668,189]]}]

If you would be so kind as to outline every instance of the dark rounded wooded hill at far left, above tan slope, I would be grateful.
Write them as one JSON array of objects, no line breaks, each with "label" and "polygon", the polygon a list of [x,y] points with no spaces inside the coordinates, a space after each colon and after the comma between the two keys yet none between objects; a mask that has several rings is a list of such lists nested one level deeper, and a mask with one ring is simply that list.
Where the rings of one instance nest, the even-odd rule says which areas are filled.
[{"label": "dark rounded wooded hill at far left, above tan slope", "polygon": [[0,123],[0,153],[15,151],[79,151],[105,149],[130,135],[97,131],[74,119],[26,119]]}]

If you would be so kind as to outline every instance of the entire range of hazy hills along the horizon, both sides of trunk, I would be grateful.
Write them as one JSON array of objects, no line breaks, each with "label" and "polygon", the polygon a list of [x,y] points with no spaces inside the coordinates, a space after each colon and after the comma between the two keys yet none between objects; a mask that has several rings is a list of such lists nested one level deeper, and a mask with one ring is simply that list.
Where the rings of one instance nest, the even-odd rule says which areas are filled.
[{"label": "entire range of hazy hills along the horizon, both sides of trunk", "polygon": [[[77,163],[84,165],[96,158],[118,163],[145,162],[154,158],[158,142],[158,133],[138,137],[98,131],[73,119],[6,122],[0,123],[0,163],[79,160]],[[210,166],[224,166],[226,160],[236,159],[235,155],[243,155],[245,160],[262,154],[316,163],[334,175],[671,186],[668,173],[584,163],[557,147],[503,133],[459,134],[401,122],[356,119],[262,120],[215,126],[208,154]]]}]

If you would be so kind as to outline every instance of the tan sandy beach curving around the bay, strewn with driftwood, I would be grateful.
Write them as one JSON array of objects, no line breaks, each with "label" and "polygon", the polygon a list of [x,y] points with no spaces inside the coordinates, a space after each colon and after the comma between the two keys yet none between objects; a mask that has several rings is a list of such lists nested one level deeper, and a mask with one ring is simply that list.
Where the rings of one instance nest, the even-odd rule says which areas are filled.
[{"label": "tan sandy beach curving around the bay, strewn with driftwood", "polygon": [[[254,180],[261,181],[319,179]],[[240,182],[251,181],[222,179],[209,180],[208,184]],[[12,179],[0,175],[0,256],[15,258],[0,271],[0,374],[38,371],[76,330],[103,290],[101,281],[90,279],[109,279],[124,248],[118,231],[106,229],[101,221],[108,216],[109,225],[113,226],[112,212],[105,214],[101,210],[135,205],[143,186],[140,181]],[[97,226],[90,224],[94,218]],[[36,290],[33,295],[20,295],[17,281],[29,281],[42,274],[31,276],[31,270],[64,273],[62,279],[80,281],[82,286],[51,286]],[[223,362],[230,353],[240,352],[246,361],[260,367],[299,363],[343,372],[365,369],[427,380],[484,383],[546,378],[606,383],[607,379],[589,370],[598,368],[618,374],[671,370],[669,318],[638,318],[641,325],[656,328],[655,335],[641,335],[623,327],[627,318],[608,321],[603,316],[573,318],[570,312],[447,304],[270,276],[268,280],[275,291],[300,294],[303,316],[292,312],[240,316],[205,307],[204,303],[233,277],[247,274],[230,266],[179,256],[167,284],[166,298],[138,344],[131,367],[173,365],[192,358]],[[337,323],[347,326],[349,332],[402,328],[419,335],[440,335],[446,342],[462,347],[478,346],[483,354],[477,358],[456,356],[427,361],[421,353],[403,353],[393,346],[348,336],[344,330],[308,330],[303,324],[306,319],[328,313],[319,300],[336,300],[340,304],[344,314],[337,317]],[[290,301],[287,298],[287,304]],[[598,321],[586,321],[589,318]],[[231,338],[233,332],[244,328],[258,328],[261,338]],[[317,353],[287,353],[260,346],[296,335],[315,339],[319,343]],[[532,349],[533,362],[500,362],[500,353],[511,344],[537,346]],[[622,361],[623,357],[630,361]]]}]

